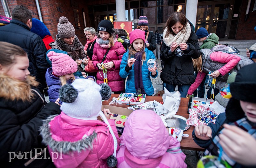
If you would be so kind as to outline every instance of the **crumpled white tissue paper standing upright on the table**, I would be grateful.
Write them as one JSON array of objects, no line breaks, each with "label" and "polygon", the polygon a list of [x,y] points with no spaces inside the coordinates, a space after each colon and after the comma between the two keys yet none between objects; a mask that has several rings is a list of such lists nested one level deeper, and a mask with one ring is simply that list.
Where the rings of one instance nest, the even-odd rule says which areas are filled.
[{"label": "crumpled white tissue paper standing upright on the table", "polygon": [[180,106],[180,92],[174,91],[170,93],[166,88],[164,88],[163,101],[164,115],[167,118],[175,115]]}]

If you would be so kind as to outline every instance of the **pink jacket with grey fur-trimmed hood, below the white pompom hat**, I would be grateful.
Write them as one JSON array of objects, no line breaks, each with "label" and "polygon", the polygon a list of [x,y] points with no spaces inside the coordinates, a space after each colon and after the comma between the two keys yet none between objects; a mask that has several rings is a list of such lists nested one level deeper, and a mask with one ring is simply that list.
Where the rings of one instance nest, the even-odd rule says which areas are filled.
[{"label": "pink jacket with grey fur-trimmed hood, below the white pompom hat", "polygon": [[[120,138],[115,121],[110,119],[108,122],[116,136],[118,150]],[[52,142],[47,143],[51,156],[56,153],[52,157],[56,167],[108,167],[107,158],[114,153],[114,141],[107,124],[99,120],[71,118],[61,112],[48,125]]]}]

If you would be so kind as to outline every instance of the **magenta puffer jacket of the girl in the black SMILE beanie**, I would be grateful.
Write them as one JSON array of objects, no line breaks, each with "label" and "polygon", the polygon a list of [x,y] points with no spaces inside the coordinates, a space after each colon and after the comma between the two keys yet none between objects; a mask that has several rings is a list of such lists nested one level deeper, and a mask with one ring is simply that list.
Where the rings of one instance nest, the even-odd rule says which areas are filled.
[{"label": "magenta puffer jacket of the girl in the black SMILE beanie", "polygon": [[[94,44],[92,63],[93,66],[98,69],[97,64],[101,63],[103,56],[106,54],[108,49],[102,48],[97,42]],[[120,64],[122,61],[123,54],[125,53],[124,47],[121,42],[115,42],[114,46],[108,51],[107,57],[104,60],[104,63],[112,61],[114,66],[110,69],[107,69],[107,80],[108,86],[113,92],[123,91],[124,90],[124,80],[120,77]],[[97,83],[103,83],[103,70],[98,71],[97,73]]]}]

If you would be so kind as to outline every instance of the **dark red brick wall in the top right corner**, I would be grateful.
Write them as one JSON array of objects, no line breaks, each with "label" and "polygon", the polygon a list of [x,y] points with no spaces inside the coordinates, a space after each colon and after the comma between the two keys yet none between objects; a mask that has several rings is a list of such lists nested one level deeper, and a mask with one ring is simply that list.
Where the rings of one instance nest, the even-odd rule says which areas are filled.
[{"label": "dark red brick wall in the top right corner", "polygon": [[256,32],[254,31],[254,27],[256,26],[256,11],[252,11],[254,2],[255,0],[251,1],[249,18],[247,19],[247,21],[245,21],[244,19],[248,1],[242,2],[240,18],[236,31],[236,40],[256,40]]}]

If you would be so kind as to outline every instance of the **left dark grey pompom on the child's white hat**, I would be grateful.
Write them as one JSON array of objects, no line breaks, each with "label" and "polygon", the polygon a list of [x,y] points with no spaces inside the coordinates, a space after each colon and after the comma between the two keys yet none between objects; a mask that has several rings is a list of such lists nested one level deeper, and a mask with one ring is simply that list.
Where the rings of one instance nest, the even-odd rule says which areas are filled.
[{"label": "left dark grey pompom on the child's white hat", "polygon": [[78,91],[69,84],[65,84],[59,90],[59,98],[62,102],[73,103],[78,96]]}]

